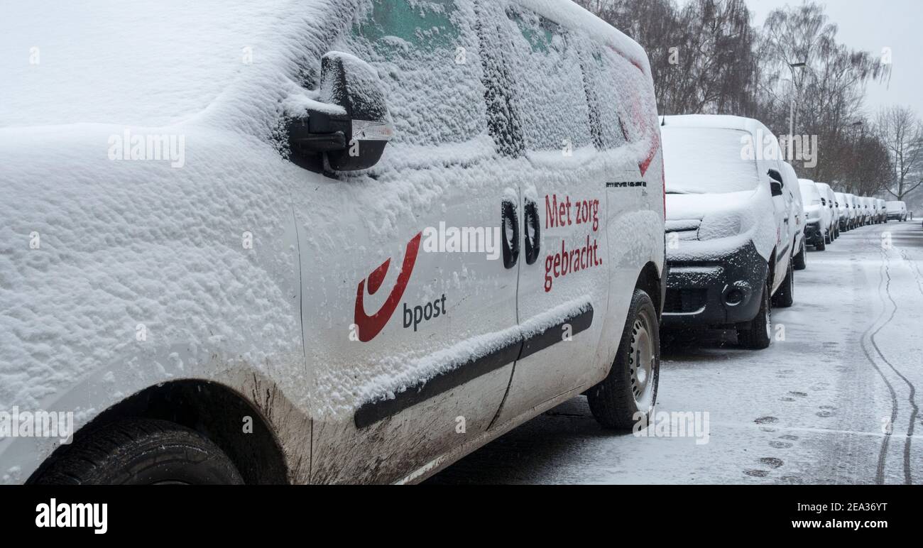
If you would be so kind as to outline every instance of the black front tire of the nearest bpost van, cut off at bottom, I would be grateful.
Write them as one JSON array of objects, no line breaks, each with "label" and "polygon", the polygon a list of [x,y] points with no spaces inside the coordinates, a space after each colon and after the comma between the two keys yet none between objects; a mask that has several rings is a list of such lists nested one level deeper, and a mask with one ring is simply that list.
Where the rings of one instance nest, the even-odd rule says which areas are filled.
[{"label": "black front tire of the nearest bpost van, cut off at bottom", "polygon": [[44,467],[37,484],[243,484],[211,440],[179,424],[130,419],[79,433]]}]

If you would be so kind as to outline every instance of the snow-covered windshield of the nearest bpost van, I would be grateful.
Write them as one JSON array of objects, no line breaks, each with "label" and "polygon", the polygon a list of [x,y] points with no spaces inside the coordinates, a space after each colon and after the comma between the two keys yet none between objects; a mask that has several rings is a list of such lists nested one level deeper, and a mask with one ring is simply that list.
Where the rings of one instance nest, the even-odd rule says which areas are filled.
[{"label": "snow-covered windshield of the nearest bpost van", "polygon": [[266,59],[277,4],[6,2],[0,127],[179,122]]}]

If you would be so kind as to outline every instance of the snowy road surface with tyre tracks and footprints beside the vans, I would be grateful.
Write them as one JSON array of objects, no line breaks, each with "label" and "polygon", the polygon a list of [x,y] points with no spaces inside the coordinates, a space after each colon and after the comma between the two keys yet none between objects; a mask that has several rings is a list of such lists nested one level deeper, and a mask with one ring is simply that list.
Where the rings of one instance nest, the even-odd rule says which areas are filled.
[{"label": "snowy road surface with tyre tracks and footprints beside the vans", "polygon": [[708,411],[707,444],[605,432],[578,398],[430,482],[923,483],[923,228],[860,228],[808,261],[769,350],[665,340],[657,411]]}]

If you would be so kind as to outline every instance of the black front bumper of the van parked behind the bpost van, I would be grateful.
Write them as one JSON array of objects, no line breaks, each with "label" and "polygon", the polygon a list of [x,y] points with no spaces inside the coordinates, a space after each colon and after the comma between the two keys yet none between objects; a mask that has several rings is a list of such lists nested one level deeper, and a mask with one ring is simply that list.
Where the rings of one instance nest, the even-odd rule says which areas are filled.
[{"label": "black front bumper of the van parked behind the bpost van", "polygon": [[707,261],[668,261],[665,327],[733,327],[760,311],[766,259],[750,243]]}]

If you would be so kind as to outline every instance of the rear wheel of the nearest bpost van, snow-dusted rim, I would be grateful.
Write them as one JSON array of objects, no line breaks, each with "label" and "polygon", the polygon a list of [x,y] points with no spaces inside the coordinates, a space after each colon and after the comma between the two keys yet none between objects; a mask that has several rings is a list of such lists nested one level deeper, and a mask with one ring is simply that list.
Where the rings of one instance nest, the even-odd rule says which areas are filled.
[{"label": "rear wheel of the nearest bpost van, snow-dusted rim", "polygon": [[653,415],[659,380],[657,310],[646,292],[635,290],[616,362],[603,382],[587,391],[593,417],[604,428],[631,430]]}]

